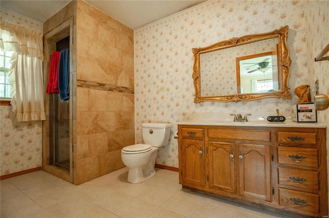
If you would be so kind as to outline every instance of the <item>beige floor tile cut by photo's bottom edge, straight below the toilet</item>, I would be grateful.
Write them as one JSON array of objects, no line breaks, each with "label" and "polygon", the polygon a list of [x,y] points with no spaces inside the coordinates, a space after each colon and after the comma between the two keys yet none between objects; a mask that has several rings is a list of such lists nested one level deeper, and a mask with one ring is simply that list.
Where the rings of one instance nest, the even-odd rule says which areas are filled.
[{"label": "beige floor tile cut by photo's bottom edge, straight below the toilet", "polygon": [[151,215],[157,208],[158,207],[153,204],[134,199],[133,201],[114,211],[114,214],[119,217],[143,218]]}]

